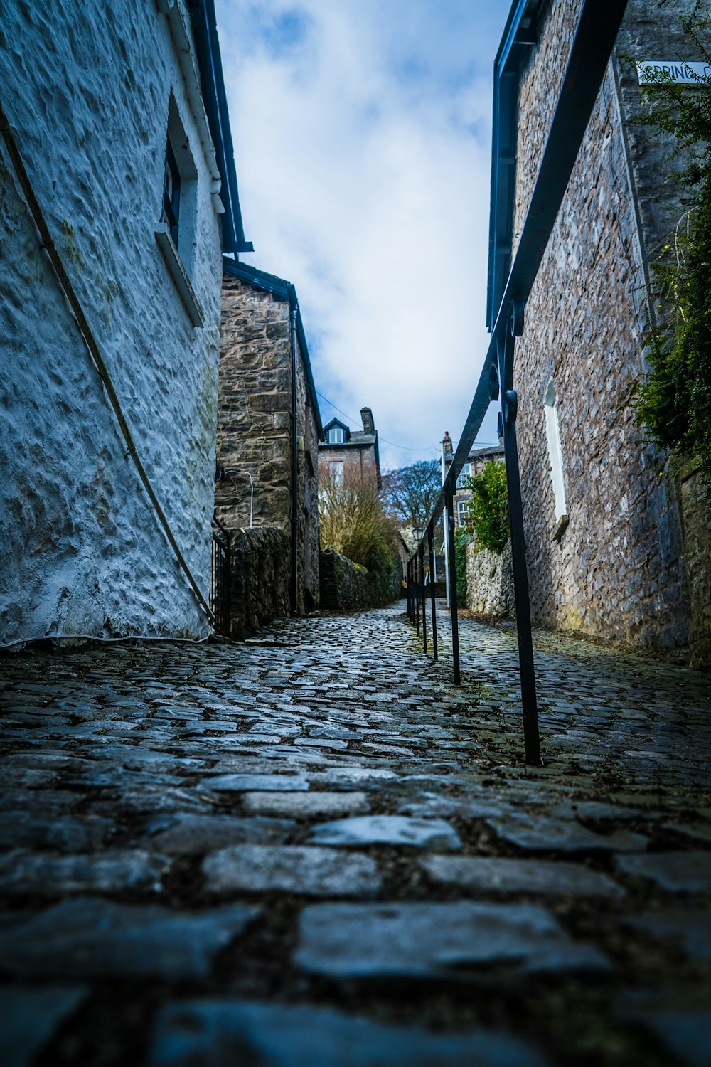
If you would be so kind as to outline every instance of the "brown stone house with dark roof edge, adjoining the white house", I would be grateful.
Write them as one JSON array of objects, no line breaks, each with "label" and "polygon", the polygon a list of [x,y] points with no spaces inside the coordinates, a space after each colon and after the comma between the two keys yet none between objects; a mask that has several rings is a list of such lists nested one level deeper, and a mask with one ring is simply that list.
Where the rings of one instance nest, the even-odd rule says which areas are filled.
[{"label": "brown stone house with dark roof edge, adjoining the white house", "polygon": [[215,515],[235,556],[236,637],[318,607],[321,440],[294,286],[225,258]]}]

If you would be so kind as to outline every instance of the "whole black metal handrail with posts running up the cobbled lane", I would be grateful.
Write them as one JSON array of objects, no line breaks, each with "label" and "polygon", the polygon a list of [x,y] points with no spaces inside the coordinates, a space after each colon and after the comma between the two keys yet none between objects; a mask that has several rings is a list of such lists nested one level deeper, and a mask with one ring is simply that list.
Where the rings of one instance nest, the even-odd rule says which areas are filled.
[{"label": "whole black metal handrail with posts running up the cobbled lane", "polygon": [[[523,333],[526,304],[548,248],[550,236],[565,191],[578,158],[578,153],[597,99],[604,73],[612,55],[617,32],[623,21],[627,0],[583,0],[578,29],[573,38],[565,78],[558,99],[544,149],[538,176],[531,195],[526,222],[521,230],[516,255],[511,266],[503,293],[495,294],[491,339],[484,357],[484,365],[471,401],[469,414],[459,435],[459,443],[445,478],[441,492],[424,536],[407,564],[407,615],[420,634],[420,605],[422,606],[422,644],[427,651],[424,612],[424,552],[432,559],[435,526],[442,512],[446,515],[446,537],[449,547],[449,585],[452,620],[453,679],[460,682],[459,640],[456,601],[456,573],[454,559],[454,496],[456,480],[484,420],[489,404],[500,400],[500,425],[506,464],[508,514],[511,521],[512,555],[514,564],[514,593],[516,603],[516,630],[521,680],[523,711],[523,740],[526,762],[542,765],[538,736],[538,708],[531,633],[529,578],[523,540],[523,510],[518,467],[516,415],[518,398],[514,383],[514,356],[516,338]],[[507,74],[503,75],[508,77]],[[433,652],[438,656],[434,586],[432,587]]]}]

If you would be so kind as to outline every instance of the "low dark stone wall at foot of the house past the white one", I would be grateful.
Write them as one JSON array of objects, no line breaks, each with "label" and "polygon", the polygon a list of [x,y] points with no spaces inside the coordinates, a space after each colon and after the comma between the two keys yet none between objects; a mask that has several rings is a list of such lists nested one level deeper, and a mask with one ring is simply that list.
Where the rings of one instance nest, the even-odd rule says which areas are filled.
[{"label": "low dark stone wall at foot of the house past the white one", "polygon": [[243,641],[289,614],[289,542],[277,526],[231,536],[229,636]]}]

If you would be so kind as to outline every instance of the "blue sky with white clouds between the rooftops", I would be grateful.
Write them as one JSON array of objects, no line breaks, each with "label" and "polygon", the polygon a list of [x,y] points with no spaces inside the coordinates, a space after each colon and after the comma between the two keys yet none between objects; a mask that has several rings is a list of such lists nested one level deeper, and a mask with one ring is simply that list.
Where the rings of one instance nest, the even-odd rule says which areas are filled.
[{"label": "blue sky with white clouds between the rooftops", "polygon": [[[242,258],[294,283],[323,420],[335,404],[359,428],[371,407],[386,469],[456,440],[488,344],[491,65],[508,7],[216,0],[256,250]],[[495,436],[491,409],[480,439]]]}]

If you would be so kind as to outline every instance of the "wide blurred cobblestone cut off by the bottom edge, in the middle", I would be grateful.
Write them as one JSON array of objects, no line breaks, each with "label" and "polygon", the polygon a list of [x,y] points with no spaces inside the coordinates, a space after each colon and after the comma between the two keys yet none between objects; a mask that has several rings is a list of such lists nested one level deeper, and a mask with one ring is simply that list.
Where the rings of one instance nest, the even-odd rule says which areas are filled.
[{"label": "wide blurred cobblestone cut off by the bottom edge, in the middle", "polygon": [[150,1067],[544,1067],[505,1034],[437,1035],[328,1008],[185,1001],[157,1020]]}]

